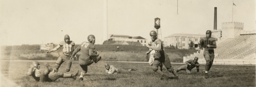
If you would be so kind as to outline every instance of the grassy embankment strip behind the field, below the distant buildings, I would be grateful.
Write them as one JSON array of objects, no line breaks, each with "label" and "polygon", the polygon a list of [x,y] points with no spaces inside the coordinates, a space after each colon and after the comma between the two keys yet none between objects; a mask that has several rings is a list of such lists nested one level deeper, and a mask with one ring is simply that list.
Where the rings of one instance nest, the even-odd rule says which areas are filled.
[{"label": "grassy embankment strip behind the field, below the distant buildings", "polygon": [[[56,46],[56,45],[55,45]],[[117,50],[117,46],[119,49]],[[75,45],[74,48],[78,47]],[[95,45],[104,61],[148,61],[148,55],[145,53],[148,48],[145,46],[131,45]],[[1,60],[57,60],[62,52],[62,48],[51,52],[40,51],[40,45],[20,45],[20,46],[2,46]],[[171,50],[165,48],[171,62],[183,62],[183,56],[196,52],[196,50]]]}]

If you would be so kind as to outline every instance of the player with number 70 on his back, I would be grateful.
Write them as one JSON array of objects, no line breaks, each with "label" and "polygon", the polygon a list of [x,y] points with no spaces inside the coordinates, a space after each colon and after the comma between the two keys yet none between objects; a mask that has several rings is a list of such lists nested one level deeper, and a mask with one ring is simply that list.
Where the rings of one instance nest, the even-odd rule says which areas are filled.
[{"label": "player with number 70 on his back", "polygon": [[[79,80],[84,80],[83,77],[85,73],[87,73],[87,66],[91,65],[93,62],[97,63],[101,59],[99,52],[95,51],[95,36],[89,35],[87,40],[88,42],[82,42],[72,54],[72,59],[74,59],[74,56],[79,58],[78,63],[83,70],[79,76]],[[80,54],[77,54],[79,51]]]}]

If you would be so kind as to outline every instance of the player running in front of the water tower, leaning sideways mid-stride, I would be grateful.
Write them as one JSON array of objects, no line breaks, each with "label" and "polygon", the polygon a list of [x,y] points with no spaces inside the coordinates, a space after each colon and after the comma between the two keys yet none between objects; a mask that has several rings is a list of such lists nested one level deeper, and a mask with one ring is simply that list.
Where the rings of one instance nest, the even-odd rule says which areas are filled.
[{"label": "player running in front of the water tower, leaning sideways mid-stride", "polygon": [[164,63],[164,66],[166,67],[166,69],[169,72],[172,72],[172,74],[175,76],[175,78],[178,79],[178,75],[177,75],[176,71],[172,68],[172,65],[171,65],[168,55],[166,53],[164,53],[164,47],[163,47],[162,41],[159,38],[157,38],[156,31],[152,30],[149,33],[149,35],[151,36],[152,47],[147,46],[147,48],[160,52],[160,54],[155,54],[155,57],[154,57],[155,59],[153,62],[152,70],[155,71],[156,73],[162,75],[165,80],[168,80],[169,77],[167,75],[165,75],[164,72],[162,72],[161,70],[158,70],[158,66],[161,63]]}]

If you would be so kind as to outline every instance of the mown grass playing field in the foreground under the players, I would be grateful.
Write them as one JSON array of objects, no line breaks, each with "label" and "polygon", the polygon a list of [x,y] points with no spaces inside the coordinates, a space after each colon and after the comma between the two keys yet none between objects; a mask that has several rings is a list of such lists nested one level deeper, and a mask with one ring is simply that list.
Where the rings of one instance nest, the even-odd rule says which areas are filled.
[{"label": "mown grass playing field in the foreground under the players", "polygon": [[[136,68],[137,71],[131,73],[110,75],[105,74],[104,64],[100,61],[88,67],[88,73],[84,81],[78,81],[67,78],[59,78],[55,82],[36,82],[32,77],[27,76],[26,72],[31,62],[20,61],[0,61],[1,87],[13,87],[15,85],[8,80],[15,82],[20,87],[255,87],[255,66],[236,66],[236,65],[213,65],[209,75],[205,79],[202,71],[205,65],[200,65],[200,73],[196,69],[192,70],[190,75],[185,71],[178,72],[179,80],[172,79],[174,76],[169,75],[170,80],[160,80],[161,76],[151,70],[148,63],[118,63],[108,62],[116,68],[129,69]],[[44,63],[41,63],[41,70],[45,70]],[[49,62],[54,66],[54,62]],[[64,72],[64,66],[61,65],[59,72]],[[176,69],[182,64],[172,64]],[[75,70],[82,69],[77,61],[72,65],[72,69],[67,73],[74,73]],[[223,75],[221,77],[221,75]]]}]

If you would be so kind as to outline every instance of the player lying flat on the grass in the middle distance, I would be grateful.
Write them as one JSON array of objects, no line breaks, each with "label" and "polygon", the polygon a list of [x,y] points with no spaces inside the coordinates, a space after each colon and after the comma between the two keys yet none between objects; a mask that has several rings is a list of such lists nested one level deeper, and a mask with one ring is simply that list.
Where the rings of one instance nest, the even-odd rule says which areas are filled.
[{"label": "player lying flat on the grass in the middle distance", "polygon": [[129,69],[129,70],[124,70],[124,69],[118,69],[115,68],[113,65],[108,65],[105,64],[105,72],[108,74],[118,74],[118,73],[130,73],[132,70],[136,71],[136,69]]}]

